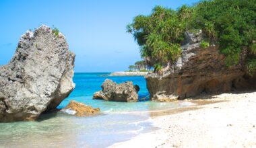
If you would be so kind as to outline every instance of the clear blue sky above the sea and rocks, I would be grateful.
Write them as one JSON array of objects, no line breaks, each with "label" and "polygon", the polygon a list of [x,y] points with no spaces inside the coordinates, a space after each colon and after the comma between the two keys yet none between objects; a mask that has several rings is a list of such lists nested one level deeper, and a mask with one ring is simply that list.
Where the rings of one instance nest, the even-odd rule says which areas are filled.
[{"label": "clear blue sky above the sea and rocks", "polygon": [[139,46],[126,32],[136,15],[156,5],[177,9],[198,0],[1,0],[0,65],[9,63],[26,30],[41,24],[65,34],[75,52],[75,72],[125,71],[140,61]]}]

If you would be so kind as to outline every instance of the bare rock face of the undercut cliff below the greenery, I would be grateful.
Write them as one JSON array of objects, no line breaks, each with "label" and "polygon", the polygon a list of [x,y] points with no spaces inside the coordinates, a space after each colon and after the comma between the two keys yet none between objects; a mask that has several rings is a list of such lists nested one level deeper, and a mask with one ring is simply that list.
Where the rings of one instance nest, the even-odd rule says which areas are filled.
[{"label": "bare rock face of the undercut cliff below the greenery", "polygon": [[200,48],[202,33],[186,32],[181,58],[164,68],[162,75],[146,76],[152,100],[176,100],[196,96],[202,92],[222,93],[231,89],[256,88],[256,77],[245,73],[245,52],[234,67],[226,67],[224,55],[218,46]]}]

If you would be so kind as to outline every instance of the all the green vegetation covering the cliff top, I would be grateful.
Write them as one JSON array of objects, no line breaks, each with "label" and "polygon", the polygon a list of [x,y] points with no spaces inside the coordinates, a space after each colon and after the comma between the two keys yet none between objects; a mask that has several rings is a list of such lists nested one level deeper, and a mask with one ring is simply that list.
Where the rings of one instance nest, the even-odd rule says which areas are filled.
[{"label": "all the green vegetation covering the cliff top", "polygon": [[181,56],[184,32],[202,30],[201,48],[211,42],[220,46],[226,65],[237,65],[243,49],[250,73],[255,72],[256,60],[255,0],[205,0],[177,10],[156,6],[150,15],[138,15],[127,26],[140,46],[141,57],[155,71]]}]

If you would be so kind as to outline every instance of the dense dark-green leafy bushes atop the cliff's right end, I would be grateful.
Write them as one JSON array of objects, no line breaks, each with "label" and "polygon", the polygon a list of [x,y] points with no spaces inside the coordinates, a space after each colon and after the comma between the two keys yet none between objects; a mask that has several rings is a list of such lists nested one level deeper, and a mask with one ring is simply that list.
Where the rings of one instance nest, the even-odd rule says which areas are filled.
[{"label": "dense dark-green leafy bushes atop the cliff's right end", "polygon": [[238,64],[243,47],[251,46],[256,38],[255,0],[202,1],[195,9],[194,27],[201,28],[207,38],[216,38],[228,66]]}]

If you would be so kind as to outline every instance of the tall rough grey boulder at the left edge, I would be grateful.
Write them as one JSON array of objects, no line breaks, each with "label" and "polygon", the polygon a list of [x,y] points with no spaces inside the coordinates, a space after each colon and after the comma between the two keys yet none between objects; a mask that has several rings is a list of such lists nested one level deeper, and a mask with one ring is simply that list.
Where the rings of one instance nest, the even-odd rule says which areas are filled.
[{"label": "tall rough grey boulder at the left edge", "polygon": [[73,91],[75,54],[47,26],[22,35],[10,63],[0,67],[0,122],[34,120]]}]

